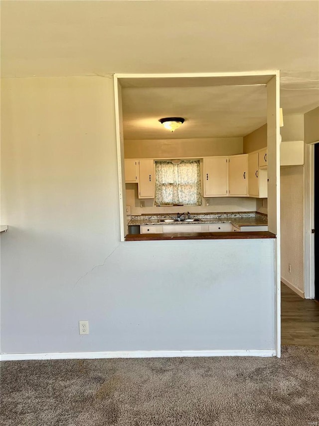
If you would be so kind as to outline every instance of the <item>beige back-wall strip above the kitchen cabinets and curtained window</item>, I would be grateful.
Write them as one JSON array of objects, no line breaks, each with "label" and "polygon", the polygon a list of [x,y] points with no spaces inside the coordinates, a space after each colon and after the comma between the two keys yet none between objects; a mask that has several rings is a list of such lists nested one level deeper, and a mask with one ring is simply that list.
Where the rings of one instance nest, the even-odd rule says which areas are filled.
[{"label": "beige back-wall strip above the kitchen cabinets and curtained window", "polygon": [[126,140],[125,158],[186,158],[243,153],[243,138]]}]

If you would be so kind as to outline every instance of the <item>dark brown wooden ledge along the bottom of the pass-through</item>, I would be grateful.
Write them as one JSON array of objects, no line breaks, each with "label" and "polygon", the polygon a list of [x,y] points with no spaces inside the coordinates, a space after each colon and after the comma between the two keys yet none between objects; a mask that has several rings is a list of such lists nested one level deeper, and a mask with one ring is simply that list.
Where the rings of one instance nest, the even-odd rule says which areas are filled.
[{"label": "dark brown wooden ledge along the bottom of the pass-through", "polygon": [[268,231],[258,232],[179,232],[174,234],[131,234],[125,241],[160,241],[160,240],[241,240],[276,238]]}]

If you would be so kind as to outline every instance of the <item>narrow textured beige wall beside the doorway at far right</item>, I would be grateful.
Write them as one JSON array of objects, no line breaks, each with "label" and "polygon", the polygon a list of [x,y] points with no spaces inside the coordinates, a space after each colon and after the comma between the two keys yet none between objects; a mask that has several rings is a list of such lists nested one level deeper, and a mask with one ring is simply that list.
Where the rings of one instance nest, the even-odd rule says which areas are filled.
[{"label": "narrow textured beige wall beside the doorway at far right", "polygon": [[304,294],[304,166],[281,167],[281,277]]}]

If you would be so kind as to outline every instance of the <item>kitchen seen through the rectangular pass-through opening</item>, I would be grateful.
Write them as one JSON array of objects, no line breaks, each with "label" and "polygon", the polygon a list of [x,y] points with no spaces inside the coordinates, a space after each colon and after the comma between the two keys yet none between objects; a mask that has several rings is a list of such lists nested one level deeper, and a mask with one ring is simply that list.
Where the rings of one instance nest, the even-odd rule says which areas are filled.
[{"label": "kitchen seen through the rectangular pass-through opening", "polygon": [[[122,99],[126,234],[268,230],[265,85],[124,88]],[[174,132],[156,118],[184,111]],[[159,202],[156,165],[189,160],[200,164],[199,202]]]}]

